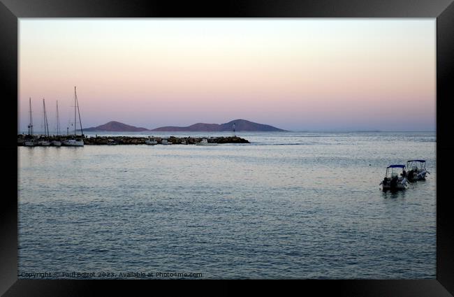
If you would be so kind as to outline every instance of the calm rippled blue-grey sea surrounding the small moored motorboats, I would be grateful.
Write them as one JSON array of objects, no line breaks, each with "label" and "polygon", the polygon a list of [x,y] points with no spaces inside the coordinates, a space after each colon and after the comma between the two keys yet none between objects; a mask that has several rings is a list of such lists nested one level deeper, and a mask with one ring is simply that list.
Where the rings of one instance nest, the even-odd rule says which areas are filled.
[{"label": "calm rippled blue-grey sea surrounding the small moored motorboats", "polygon": [[[18,147],[19,277],[435,278],[435,133],[238,136]],[[407,159],[427,180],[381,191]]]}]

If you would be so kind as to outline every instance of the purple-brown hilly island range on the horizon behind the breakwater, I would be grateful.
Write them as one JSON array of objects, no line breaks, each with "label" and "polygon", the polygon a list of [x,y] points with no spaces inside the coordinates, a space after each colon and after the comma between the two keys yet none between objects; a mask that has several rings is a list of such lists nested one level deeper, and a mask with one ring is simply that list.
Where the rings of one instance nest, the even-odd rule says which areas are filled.
[{"label": "purple-brown hilly island range on the horizon behind the breakwater", "polygon": [[146,129],[142,127],[130,126],[120,122],[108,122],[96,127],[84,129],[84,131],[110,131],[110,132],[141,132],[141,131],[172,131],[172,132],[224,132],[233,131],[233,124],[235,124],[235,131],[247,132],[285,132],[286,130],[276,128],[267,124],[258,124],[247,121],[246,119],[234,119],[225,124],[205,124],[197,123],[191,126],[162,126],[156,129]]}]

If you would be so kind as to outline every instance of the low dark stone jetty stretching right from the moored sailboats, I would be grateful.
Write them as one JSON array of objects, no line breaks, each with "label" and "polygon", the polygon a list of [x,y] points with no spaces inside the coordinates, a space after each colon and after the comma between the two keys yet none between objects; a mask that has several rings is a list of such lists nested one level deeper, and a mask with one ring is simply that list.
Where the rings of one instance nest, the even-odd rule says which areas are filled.
[{"label": "low dark stone jetty stretching right from the moored sailboats", "polygon": [[[59,140],[63,142],[66,139],[72,139],[74,136],[29,136],[24,134],[17,135],[17,145],[24,145],[27,140],[33,139],[35,143],[41,140],[52,142]],[[78,136],[80,138],[80,136]],[[134,137],[134,136],[84,136],[85,145],[146,145],[146,140],[154,139],[157,144],[161,144],[162,140],[167,140],[168,144],[173,145],[194,145],[200,143],[201,140],[206,138],[208,143],[249,143],[249,140],[240,138],[238,136],[221,136],[221,137],[175,137],[162,138],[157,136],[148,137]]]}]

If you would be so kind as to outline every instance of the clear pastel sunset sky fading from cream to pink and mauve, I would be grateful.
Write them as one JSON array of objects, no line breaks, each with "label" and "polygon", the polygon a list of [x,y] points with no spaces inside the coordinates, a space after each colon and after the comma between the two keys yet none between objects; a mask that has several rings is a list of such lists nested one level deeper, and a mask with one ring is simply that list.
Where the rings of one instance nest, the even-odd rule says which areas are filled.
[{"label": "clear pastel sunset sky fading from cream to pink and mauve", "polygon": [[[19,131],[435,131],[436,19],[19,19]],[[71,128],[70,128],[71,129]]]}]

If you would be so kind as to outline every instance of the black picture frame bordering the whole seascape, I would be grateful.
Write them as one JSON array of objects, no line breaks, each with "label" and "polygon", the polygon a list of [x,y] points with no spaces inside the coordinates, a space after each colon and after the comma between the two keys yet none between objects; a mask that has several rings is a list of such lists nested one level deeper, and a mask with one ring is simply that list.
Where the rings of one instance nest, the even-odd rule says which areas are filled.
[{"label": "black picture frame bordering the whole seascape", "polygon": [[[454,294],[454,219],[450,166],[449,109],[454,76],[452,0],[187,1],[0,0],[0,76],[3,111],[0,199],[0,294],[4,296],[87,296],[106,288],[140,289],[149,282],[93,280],[17,280],[17,19],[20,17],[430,17],[437,18],[437,278],[434,280],[305,280],[303,291],[335,296],[452,296]],[[4,105],[6,104],[6,106]],[[7,127],[7,128],[6,128]],[[451,174],[450,174],[451,173]],[[329,285],[327,286],[326,283]],[[174,286],[172,286],[174,287]],[[184,287],[187,287],[187,282]],[[265,286],[266,287],[266,286]]]}]

